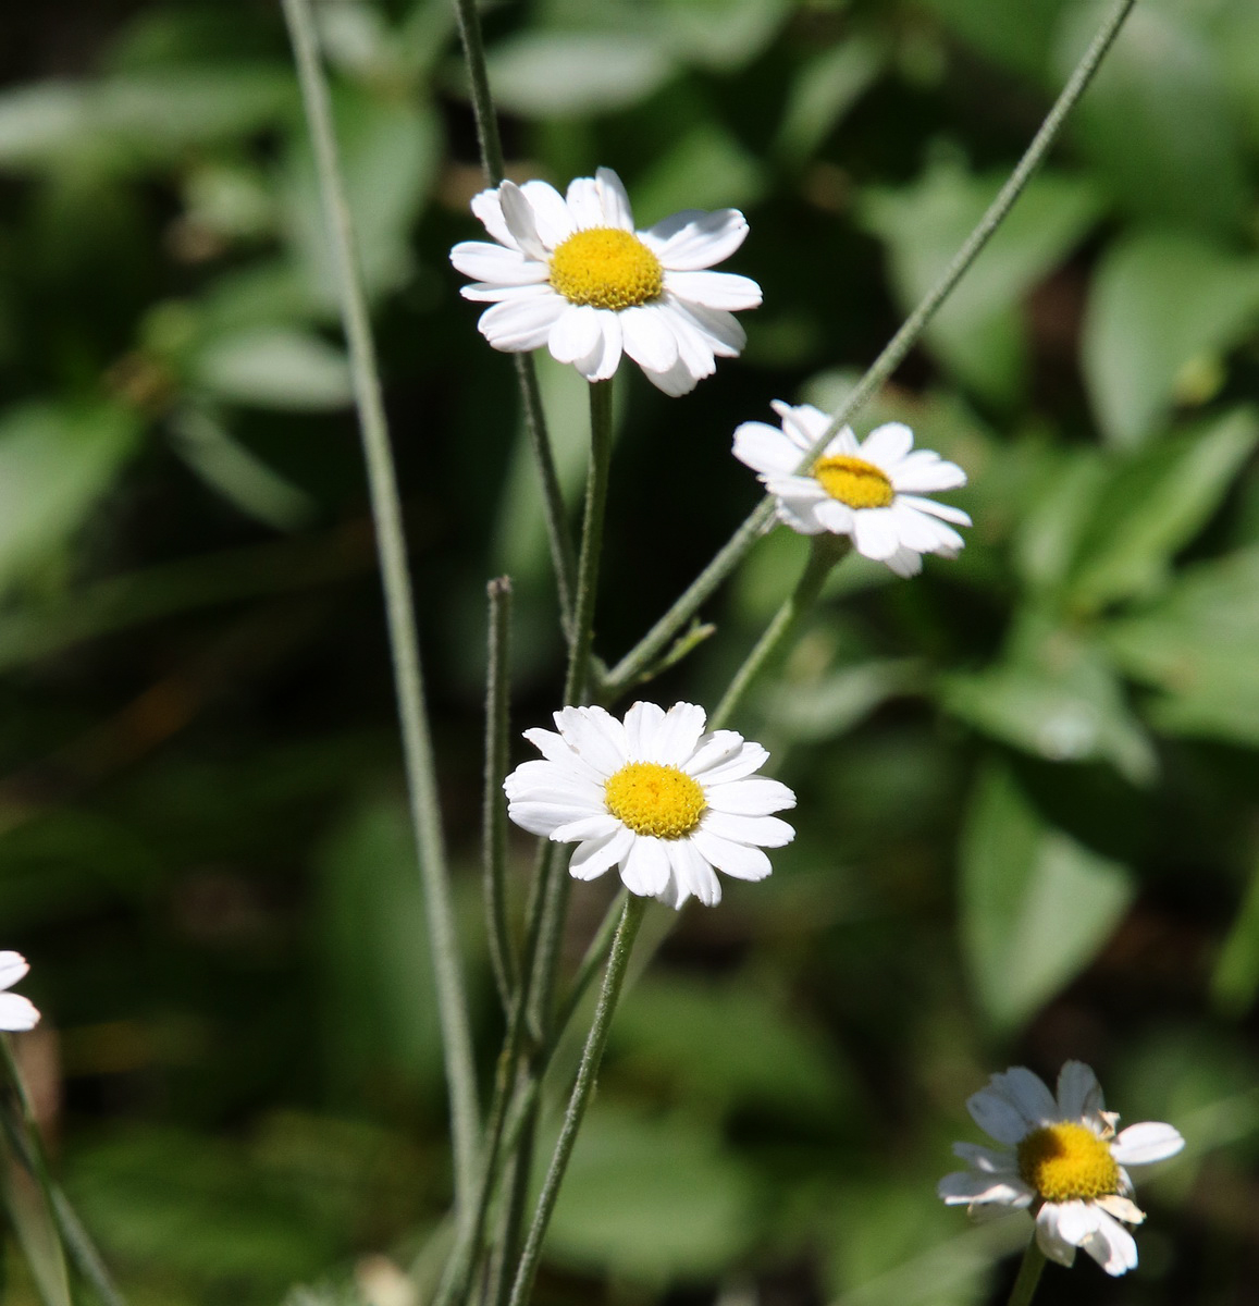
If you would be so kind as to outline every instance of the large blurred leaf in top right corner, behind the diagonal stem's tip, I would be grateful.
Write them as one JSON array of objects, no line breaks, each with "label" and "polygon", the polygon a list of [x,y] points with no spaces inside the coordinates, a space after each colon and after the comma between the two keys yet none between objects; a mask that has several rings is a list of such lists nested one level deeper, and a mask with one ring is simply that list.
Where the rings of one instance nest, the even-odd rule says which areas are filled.
[{"label": "large blurred leaf in top right corner, behind the diagonal stem's tip", "polygon": [[[1245,221],[1249,192],[1237,123],[1204,38],[1178,8],[1134,8],[1071,129],[1093,159],[1098,183],[1131,212],[1234,231]],[[1063,76],[1104,12],[1102,0],[1067,12],[1058,42]]]}]

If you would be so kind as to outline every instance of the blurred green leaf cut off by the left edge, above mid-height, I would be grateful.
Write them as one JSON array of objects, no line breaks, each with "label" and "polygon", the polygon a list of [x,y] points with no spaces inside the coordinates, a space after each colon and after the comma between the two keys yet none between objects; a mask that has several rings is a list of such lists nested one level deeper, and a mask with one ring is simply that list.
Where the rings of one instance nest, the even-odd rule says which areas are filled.
[{"label": "blurred green leaf cut off by the left edge, above mid-height", "polygon": [[60,549],[136,452],[115,404],[37,404],[0,417],[0,590]]}]

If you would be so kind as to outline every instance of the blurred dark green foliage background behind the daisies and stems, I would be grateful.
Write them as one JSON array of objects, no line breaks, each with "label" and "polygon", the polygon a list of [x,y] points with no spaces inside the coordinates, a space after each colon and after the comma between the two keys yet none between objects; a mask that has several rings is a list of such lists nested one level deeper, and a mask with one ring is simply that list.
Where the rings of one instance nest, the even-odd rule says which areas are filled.
[{"label": "blurred dark green foliage background behind the daisies and stems", "polygon": [[[692,397],[619,387],[605,656],[755,502],[734,426],[774,397],[837,402],[1098,16],[487,9],[512,174],[613,166],[644,225],[743,206],[733,266],[765,291],[744,358]],[[545,534],[511,367],[445,257],[481,185],[449,8],[320,17],[488,1074],[481,596],[517,582],[516,721],[539,724],[560,684]],[[448,1234],[441,1071],[278,7],[63,0],[9,7],[0,34],[0,943],[31,957],[47,1013],[24,1055],[60,1092],[57,1170],[138,1306],[402,1303],[390,1264],[427,1292]],[[968,547],[908,584],[846,563],[737,722],[798,790],[799,837],[720,910],[660,913],[539,1301],[995,1298],[1021,1226],[968,1228],[934,1183],[990,1071],[1067,1057],[1190,1148],[1143,1190],[1138,1276],[1051,1272],[1046,1299],[1246,1298],[1256,47],[1252,0],[1141,0],[1050,166],[859,415],[968,469]],[[575,498],[584,388],[549,359],[541,377]],[[763,541],[703,614],[717,636],[652,692],[713,703],[803,558]],[[520,844],[520,883],[528,863]],[[606,888],[575,893],[573,960]],[[14,1302],[34,1299],[17,1242],[39,1237],[16,1216]]]}]

